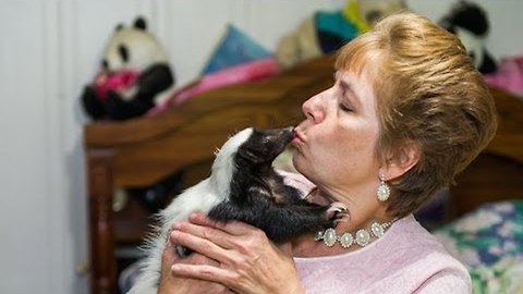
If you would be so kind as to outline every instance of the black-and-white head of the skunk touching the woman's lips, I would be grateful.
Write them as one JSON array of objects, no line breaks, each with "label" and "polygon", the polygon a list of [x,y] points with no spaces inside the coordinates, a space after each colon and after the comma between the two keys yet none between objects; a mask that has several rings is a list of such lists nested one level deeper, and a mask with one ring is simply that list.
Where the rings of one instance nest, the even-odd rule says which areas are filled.
[{"label": "black-and-white head of the skunk touching the woman's lips", "polygon": [[[231,136],[216,154],[212,163],[215,184],[229,185],[236,169],[267,166],[281,154],[294,135],[293,127],[277,130],[245,128]],[[250,167],[238,167],[248,164]],[[222,191],[228,194],[228,192]]]}]

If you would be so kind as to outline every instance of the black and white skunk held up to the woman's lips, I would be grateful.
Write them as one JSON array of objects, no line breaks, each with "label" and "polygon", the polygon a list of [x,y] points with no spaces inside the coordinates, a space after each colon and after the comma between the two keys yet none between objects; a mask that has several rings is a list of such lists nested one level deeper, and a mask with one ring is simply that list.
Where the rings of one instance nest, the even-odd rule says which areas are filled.
[{"label": "black and white skunk held up to the woman's lips", "polygon": [[[293,136],[292,127],[248,127],[230,137],[217,151],[210,176],[185,189],[160,211],[161,228],[149,240],[143,271],[129,293],[157,293],[168,232],[194,211],[215,221],[239,220],[252,224],[275,243],[332,226],[341,208],[306,201],[272,168],[272,161]],[[177,252],[182,256],[191,253],[181,246]]]}]

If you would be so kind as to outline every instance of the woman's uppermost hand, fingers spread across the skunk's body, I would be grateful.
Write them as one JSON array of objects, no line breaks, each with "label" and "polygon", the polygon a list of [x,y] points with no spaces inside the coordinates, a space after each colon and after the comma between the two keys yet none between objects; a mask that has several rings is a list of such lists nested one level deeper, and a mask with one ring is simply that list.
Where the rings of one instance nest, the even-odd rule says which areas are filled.
[{"label": "woman's uppermost hand, fingers spread across the skunk's body", "polygon": [[242,294],[304,293],[290,244],[275,246],[265,233],[241,222],[217,223],[192,215],[171,232],[171,242],[216,262],[172,266],[174,277],[217,282]]}]

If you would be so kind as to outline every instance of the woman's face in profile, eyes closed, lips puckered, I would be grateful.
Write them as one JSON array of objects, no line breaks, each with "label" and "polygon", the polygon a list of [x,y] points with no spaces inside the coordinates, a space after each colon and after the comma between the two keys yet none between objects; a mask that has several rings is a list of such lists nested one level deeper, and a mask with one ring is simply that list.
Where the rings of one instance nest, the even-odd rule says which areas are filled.
[{"label": "woman's face in profile, eyes closed, lips puckered", "polygon": [[333,200],[349,204],[375,195],[379,164],[374,150],[380,126],[376,97],[364,74],[338,71],[335,85],[302,108],[306,120],[295,128],[295,168]]}]

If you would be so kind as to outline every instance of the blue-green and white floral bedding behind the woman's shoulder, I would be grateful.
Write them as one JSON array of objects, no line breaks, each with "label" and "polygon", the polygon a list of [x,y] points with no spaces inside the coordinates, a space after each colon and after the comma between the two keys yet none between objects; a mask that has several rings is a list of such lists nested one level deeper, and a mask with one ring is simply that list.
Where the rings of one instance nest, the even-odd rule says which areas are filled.
[{"label": "blue-green and white floral bedding behind the woman's shoulder", "polygon": [[484,205],[434,234],[466,266],[474,293],[523,293],[522,200]]}]

